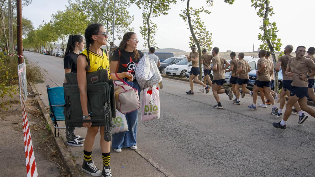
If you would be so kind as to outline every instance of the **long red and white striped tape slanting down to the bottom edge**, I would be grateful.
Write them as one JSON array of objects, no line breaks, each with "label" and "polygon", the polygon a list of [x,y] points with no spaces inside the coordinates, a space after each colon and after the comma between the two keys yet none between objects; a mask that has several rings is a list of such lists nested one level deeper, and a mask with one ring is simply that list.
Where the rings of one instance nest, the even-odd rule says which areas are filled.
[{"label": "long red and white striped tape slanting down to the bottom edge", "polygon": [[[25,69],[25,66],[20,70]],[[20,88],[22,88],[22,75],[19,71]],[[25,160],[26,160],[26,174],[27,177],[38,177],[37,168],[35,163],[35,156],[33,151],[33,143],[31,139],[30,127],[28,125],[28,119],[26,114],[26,106],[24,102],[23,88],[21,91],[21,107],[22,107],[22,117],[23,117],[23,136],[24,136],[24,148],[25,148]]]}]

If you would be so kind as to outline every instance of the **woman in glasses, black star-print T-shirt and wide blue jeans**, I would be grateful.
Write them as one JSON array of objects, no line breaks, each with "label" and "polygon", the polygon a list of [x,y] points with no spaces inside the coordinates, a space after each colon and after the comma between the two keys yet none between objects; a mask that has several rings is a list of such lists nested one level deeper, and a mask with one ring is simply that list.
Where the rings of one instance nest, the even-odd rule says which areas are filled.
[{"label": "woman in glasses, black star-print T-shirt and wide blue jeans", "polygon": [[[134,32],[124,34],[118,49],[110,58],[110,68],[112,73],[128,72],[133,74],[133,82],[126,82],[131,87],[138,89],[138,94],[140,95],[140,87],[135,79],[135,71],[133,70],[144,55],[140,50],[137,50],[138,42],[139,39]],[[116,152],[121,152],[122,147],[129,147],[132,150],[137,149],[138,110],[129,112],[125,116],[129,131],[113,134],[112,147]]]}]

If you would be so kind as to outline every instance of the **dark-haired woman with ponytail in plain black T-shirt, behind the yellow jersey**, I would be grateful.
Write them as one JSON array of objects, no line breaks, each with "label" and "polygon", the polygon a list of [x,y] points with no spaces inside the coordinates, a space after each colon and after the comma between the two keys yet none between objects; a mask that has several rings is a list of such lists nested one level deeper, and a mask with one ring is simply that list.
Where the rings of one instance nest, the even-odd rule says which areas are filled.
[{"label": "dark-haired woman with ponytail in plain black T-shirt, behind the yellow jersey", "polygon": [[[63,58],[63,68],[65,69],[65,74],[69,72],[77,72],[77,57],[84,47],[85,43],[82,36],[77,34],[69,36],[65,58]],[[84,138],[75,134],[74,139],[72,141],[67,141],[67,144],[70,146],[80,147],[83,146],[83,141]]]}]

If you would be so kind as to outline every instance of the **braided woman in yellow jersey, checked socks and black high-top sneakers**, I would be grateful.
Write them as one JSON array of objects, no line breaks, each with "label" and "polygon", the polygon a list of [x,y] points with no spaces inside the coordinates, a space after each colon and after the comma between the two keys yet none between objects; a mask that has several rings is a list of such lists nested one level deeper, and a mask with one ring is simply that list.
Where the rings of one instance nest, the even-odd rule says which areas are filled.
[{"label": "braided woman in yellow jersey, checked socks and black high-top sneakers", "polygon": [[[86,119],[91,119],[89,117],[87,102],[87,84],[86,84],[86,73],[94,72],[99,69],[106,69],[108,71],[109,78],[113,80],[118,80],[115,74],[110,74],[109,61],[107,52],[100,47],[102,45],[107,45],[107,34],[104,26],[99,23],[94,23],[89,25],[85,30],[85,43],[86,49],[79,54],[77,58],[77,81],[80,90],[80,101],[83,111],[83,116],[87,116]],[[127,77],[129,81],[133,81],[133,75],[129,72],[117,73],[119,78]],[[91,103],[92,104],[92,103]],[[82,170],[93,176],[112,176],[110,168],[110,146],[111,142],[107,142],[103,139],[104,127],[100,127],[100,147],[103,157],[103,169],[100,171],[94,164],[92,160],[92,149],[95,140],[95,135],[98,133],[99,127],[91,127],[92,123],[83,123],[83,127],[88,128],[87,134],[85,136],[84,143],[84,160],[82,165]]]}]

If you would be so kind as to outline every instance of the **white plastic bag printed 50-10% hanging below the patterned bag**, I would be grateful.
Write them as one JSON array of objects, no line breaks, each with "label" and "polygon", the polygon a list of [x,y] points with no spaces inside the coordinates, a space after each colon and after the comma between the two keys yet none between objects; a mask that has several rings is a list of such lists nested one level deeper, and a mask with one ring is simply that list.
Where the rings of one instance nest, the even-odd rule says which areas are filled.
[{"label": "white plastic bag printed 50-10% hanging below the patterned bag", "polygon": [[[151,92],[152,91],[152,92]],[[160,118],[160,95],[155,87],[144,89],[142,99],[141,121]]]}]

